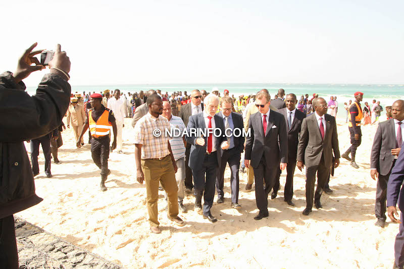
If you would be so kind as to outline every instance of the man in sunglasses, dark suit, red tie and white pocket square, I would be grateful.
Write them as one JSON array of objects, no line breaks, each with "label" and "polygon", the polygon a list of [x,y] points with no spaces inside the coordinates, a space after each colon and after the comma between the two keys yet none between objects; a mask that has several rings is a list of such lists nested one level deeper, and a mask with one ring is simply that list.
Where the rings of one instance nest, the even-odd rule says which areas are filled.
[{"label": "man in sunglasses, dark suit, red tie and white pocket square", "polygon": [[244,164],[246,168],[254,168],[256,201],[260,209],[255,220],[269,216],[268,193],[275,184],[278,167],[284,170],[287,164],[285,120],[281,114],[269,109],[270,103],[268,93],[260,91],[257,94],[255,105],[259,113],[252,114],[249,119],[250,135],[245,143]]}]

